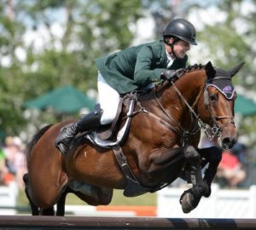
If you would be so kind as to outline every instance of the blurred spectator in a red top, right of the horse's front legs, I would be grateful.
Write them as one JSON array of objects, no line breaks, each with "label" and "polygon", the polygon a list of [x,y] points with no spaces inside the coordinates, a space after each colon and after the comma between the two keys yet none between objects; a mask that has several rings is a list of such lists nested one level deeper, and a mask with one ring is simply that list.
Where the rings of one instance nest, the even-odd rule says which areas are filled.
[{"label": "blurred spectator in a red top, right of the horse's front legs", "polygon": [[[243,169],[241,157],[241,145],[237,143],[231,150],[222,153],[222,160],[218,164],[217,180],[221,187],[239,187],[246,178],[246,171]],[[239,151],[238,151],[239,150]]]}]

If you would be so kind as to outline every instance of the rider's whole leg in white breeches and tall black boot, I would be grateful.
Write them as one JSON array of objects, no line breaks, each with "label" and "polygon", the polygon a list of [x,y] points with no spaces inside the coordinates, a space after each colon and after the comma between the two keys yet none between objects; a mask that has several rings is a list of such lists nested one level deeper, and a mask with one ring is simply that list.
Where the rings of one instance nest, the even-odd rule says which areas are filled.
[{"label": "rider's whole leg in white breeches and tall black boot", "polygon": [[55,141],[55,147],[63,154],[67,152],[71,141],[79,132],[97,129],[101,124],[110,124],[113,121],[119,105],[119,93],[105,82],[100,72],[97,86],[102,109],[90,112],[77,123],[67,124],[61,129],[61,133]]}]

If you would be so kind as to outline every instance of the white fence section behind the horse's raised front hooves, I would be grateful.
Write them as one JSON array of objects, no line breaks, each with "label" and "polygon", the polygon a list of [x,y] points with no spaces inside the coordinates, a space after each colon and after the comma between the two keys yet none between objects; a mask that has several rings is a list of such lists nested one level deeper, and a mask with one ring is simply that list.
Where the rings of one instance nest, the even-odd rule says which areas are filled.
[{"label": "white fence section behind the horse's raised front hooves", "polygon": [[256,218],[256,186],[248,190],[219,189],[212,184],[210,198],[201,198],[195,210],[184,214],[179,198],[186,187],[166,187],[157,193],[157,216],[172,218]]}]

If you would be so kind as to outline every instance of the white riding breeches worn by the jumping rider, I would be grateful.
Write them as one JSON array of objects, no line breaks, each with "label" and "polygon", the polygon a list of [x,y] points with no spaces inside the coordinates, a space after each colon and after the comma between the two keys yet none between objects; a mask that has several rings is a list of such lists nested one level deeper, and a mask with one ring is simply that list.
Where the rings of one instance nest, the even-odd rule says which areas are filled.
[{"label": "white riding breeches worn by the jumping rider", "polygon": [[98,72],[98,95],[99,103],[103,109],[101,124],[110,124],[116,115],[119,106],[119,93],[113,89],[105,79],[102,77],[101,72]]}]

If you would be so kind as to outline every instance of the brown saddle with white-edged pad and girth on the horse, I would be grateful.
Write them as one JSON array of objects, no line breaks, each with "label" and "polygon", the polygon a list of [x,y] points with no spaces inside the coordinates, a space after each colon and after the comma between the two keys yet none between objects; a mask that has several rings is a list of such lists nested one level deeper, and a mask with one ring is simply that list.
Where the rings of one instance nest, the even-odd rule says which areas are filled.
[{"label": "brown saddle with white-edged pad and girth on the horse", "polygon": [[[141,94],[145,93],[144,91]],[[144,193],[154,193],[161,187],[143,187],[135,175],[133,175],[131,168],[126,160],[126,157],[120,147],[120,144],[125,141],[128,130],[131,124],[131,118],[137,114],[134,111],[135,103],[137,103],[137,91],[133,91],[125,95],[119,101],[119,108],[113,124],[103,126],[96,131],[85,132],[74,139],[73,147],[78,147],[84,142],[84,139],[90,141],[96,147],[112,149],[119,167],[123,171],[126,179],[126,186],[124,190],[125,197],[136,197]],[[97,105],[96,109],[99,109]],[[125,114],[122,114],[122,108],[125,107]],[[124,118],[123,118],[124,116]],[[125,124],[123,122],[125,121]],[[123,124],[123,125],[122,125]],[[122,126],[121,126],[122,125]]]}]

